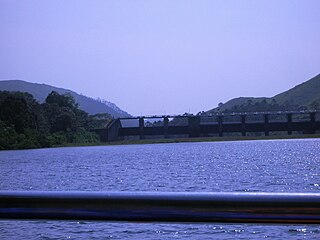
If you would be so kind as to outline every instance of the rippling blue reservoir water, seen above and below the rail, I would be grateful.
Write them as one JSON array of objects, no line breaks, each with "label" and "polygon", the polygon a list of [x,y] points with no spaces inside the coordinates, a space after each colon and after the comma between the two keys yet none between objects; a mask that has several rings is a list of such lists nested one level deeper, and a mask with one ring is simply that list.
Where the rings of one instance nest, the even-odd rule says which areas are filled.
[{"label": "rippling blue reservoir water, seen above and below the rail", "polygon": [[[0,190],[320,192],[320,140],[0,152]],[[318,225],[0,221],[1,239],[320,239]]]}]

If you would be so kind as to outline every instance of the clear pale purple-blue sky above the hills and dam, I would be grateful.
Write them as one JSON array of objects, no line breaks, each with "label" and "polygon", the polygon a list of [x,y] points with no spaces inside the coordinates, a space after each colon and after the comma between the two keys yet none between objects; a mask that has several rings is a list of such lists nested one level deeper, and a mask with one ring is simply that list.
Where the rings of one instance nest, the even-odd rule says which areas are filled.
[{"label": "clear pale purple-blue sky above the hills and dam", "polygon": [[320,73],[320,1],[0,0],[0,79],[134,115],[273,96]]}]

